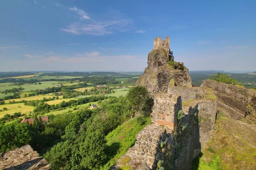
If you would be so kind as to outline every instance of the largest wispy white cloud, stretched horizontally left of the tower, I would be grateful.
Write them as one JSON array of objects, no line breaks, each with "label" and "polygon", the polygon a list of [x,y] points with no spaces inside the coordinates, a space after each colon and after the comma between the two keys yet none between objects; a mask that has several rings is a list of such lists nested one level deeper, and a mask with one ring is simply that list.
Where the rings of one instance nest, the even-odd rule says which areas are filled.
[{"label": "largest wispy white cloud, stretched horizontally left of the tower", "polygon": [[112,34],[113,31],[119,31],[131,23],[131,19],[119,19],[104,22],[92,21],[91,23],[72,23],[67,26],[67,28],[61,28],[61,30],[77,35],[88,34],[101,36],[105,34]]}]

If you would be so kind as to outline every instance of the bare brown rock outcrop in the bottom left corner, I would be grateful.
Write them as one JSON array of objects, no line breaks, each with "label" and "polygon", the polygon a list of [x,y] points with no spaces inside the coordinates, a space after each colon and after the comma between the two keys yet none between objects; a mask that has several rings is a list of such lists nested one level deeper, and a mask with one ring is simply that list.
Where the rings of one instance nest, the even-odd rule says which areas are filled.
[{"label": "bare brown rock outcrop in the bottom left corner", "polygon": [[29,145],[1,153],[0,170],[51,170],[48,161]]}]

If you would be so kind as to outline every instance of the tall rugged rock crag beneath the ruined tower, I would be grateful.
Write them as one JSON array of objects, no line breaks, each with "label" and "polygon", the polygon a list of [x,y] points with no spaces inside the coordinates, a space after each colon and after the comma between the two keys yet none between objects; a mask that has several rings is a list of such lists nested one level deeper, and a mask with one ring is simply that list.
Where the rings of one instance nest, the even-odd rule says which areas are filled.
[{"label": "tall rugged rock crag beneath the ruined tower", "polygon": [[148,54],[148,67],[140,76],[137,85],[148,88],[151,94],[157,92],[166,93],[170,81],[174,80],[175,86],[192,87],[189,70],[175,70],[168,64],[166,51],[164,49],[152,50]]}]

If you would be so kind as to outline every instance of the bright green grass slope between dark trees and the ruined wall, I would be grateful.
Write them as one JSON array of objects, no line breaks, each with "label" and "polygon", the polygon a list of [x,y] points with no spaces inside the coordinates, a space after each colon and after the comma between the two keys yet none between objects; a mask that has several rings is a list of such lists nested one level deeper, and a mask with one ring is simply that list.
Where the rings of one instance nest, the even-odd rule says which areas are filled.
[{"label": "bright green grass slope between dark trees and the ruined wall", "polygon": [[151,124],[151,117],[146,116],[145,125],[136,124],[136,119],[131,119],[128,122],[119,125],[115,130],[108,133],[106,136],[109,161],[101,167],[101,170],[108,170],[116,161],[123,156],[129,147],[132,147],[136,142],[137,133],[146,125]]}]

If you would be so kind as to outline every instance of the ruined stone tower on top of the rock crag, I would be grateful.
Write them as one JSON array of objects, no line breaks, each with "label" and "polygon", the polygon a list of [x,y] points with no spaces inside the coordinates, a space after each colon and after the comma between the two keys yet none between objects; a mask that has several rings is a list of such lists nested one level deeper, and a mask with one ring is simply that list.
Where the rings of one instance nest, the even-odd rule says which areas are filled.
[{"label": "ruined stone tower on top of the rock crag", "polygon": [[162,40],[162,37],[157,37],[154,39],[153,50],[161,48],[164,48],[166,50],[167,59],[169,61],[174,61],[172,51],[170,51],[170,37],[166,37],[165,40]]}]

